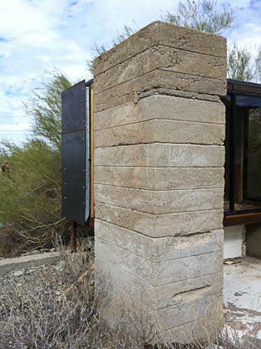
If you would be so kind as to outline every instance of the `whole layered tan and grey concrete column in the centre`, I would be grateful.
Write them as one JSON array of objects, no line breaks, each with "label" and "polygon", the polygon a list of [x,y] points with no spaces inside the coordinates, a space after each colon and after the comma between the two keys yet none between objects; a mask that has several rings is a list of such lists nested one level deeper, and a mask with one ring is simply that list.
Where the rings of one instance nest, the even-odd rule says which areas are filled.
[{"label": "whole layered tan and grey concrete column in the centre", "polygon": [[95,268],[165,334],[222,313],[226,82],[225,38],[165,22],[94,61]]}]

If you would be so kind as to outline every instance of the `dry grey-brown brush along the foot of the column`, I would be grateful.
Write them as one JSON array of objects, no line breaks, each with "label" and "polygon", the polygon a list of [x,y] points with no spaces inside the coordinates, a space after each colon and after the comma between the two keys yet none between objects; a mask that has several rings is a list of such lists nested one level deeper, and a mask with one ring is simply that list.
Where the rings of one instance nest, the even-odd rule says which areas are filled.
[{"label": "dry grey-brown brush along the foot of the column", "polygon": [[[110,285],[108,276],[93,272],[93,253],[61,253],[57,274],[37,278],[50,290],[39,292],[33,284],[23,288],[10,281],[13,292],[0,298],[0,348],[4,349],[257,349],[253,341],[240,340],[224,330],[223,320],[197,324],[205,331],[204,343],[184,326],[183,344],[127,297],[111,302],[104,314]],[[107,280],[107,282],[106,282]],[[57,284],[61,292],[57,292]],[[116,313],[115,313],[116,311]],[[113,320],[114,319],[114,320]]]}]

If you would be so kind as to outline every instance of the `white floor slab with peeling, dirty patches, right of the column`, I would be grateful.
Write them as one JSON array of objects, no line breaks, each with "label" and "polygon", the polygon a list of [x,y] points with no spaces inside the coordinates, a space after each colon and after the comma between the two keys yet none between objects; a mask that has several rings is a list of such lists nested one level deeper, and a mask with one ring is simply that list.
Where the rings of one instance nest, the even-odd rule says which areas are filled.
[{"label": "white floor slab with peeling, dirty patches, right of the column", "polygon": [[261,348],[261,259],[245,257],[224,265],[225,318],[231,332],[258,338]]}]

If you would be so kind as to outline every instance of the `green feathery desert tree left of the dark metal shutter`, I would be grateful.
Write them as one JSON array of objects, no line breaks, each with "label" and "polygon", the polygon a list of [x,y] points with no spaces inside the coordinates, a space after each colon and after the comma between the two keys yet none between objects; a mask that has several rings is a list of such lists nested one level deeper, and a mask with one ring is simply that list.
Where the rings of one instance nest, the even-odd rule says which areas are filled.
[{"label": "green feathery desert tree left of the dark metal shutter", "polygon": [[0,175],[0,238],[8,245],[13,237],[15,244],[8,248],[13,253],[50,244],[56,233],[66,230],[61,217],[61,93],[70,86],[68,77],[52,69],[24,103],[31,139],[1,142],[10,170]]}]

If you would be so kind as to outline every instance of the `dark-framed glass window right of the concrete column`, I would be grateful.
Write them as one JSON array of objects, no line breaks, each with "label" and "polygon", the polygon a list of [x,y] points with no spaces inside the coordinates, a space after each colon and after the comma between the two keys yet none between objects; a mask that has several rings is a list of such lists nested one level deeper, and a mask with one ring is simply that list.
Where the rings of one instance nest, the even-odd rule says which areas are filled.
[{"label": "dark-framed glass window right of the concrete column", "polygon": [[227,95],[225,211],[261,209],[261,96]]}]

